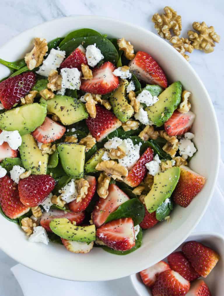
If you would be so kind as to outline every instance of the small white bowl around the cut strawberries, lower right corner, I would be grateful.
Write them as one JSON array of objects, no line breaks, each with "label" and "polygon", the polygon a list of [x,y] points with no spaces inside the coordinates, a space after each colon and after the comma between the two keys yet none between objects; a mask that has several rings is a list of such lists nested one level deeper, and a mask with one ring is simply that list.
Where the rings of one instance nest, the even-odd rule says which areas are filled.
[{"label": "small white bowl around the cut strawberries, lower right corner", "polygon": [[[202,278],[208,285],[212,295],[223,296],[223,282],[221,279],[224,278],[224,237],[218,233],[206,233],[199,232],[190,235],[185,242],[195,240],[205,244],[207,247],[212,248],[220,255],[220,260],[216,264],[215,268],[207,276],[207,278]],[[179,246],[175,251],[181,251],[181,246]],[[164,258],[163,260],[166,260]],[[152,296],[151,289],[143,284],[140,274],[132,274],[130,276],[132,284],[135,291],[139,296]]]}]

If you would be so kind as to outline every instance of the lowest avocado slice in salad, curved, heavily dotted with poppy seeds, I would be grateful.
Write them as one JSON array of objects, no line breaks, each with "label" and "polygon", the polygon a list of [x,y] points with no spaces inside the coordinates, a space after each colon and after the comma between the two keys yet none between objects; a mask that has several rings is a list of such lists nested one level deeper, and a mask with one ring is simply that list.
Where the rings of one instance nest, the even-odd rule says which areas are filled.
[{"label": "lowest avocado slice in salad, curved, heavily dotted with poppy seeds", "polygon": [[67,218],[55,218],[50,221],[50,229],[63,239],[76,242],[92,242],[96,240],[95,225],[76,226]]}]

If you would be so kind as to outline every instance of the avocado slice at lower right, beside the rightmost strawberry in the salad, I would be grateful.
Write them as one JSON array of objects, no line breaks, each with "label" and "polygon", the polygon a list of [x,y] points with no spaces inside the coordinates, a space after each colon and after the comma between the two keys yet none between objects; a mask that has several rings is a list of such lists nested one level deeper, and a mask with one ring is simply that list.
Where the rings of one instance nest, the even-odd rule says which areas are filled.
[{"label": "avocado slice at lower right, beside the rightmost strawberry in the salad", "polygon": [[149,213],[154,212],[164,200],[171,196],[179,177],[179,167],[172,167],[162,173],[156,174],[152,189],[145,197],[145,206]]}]

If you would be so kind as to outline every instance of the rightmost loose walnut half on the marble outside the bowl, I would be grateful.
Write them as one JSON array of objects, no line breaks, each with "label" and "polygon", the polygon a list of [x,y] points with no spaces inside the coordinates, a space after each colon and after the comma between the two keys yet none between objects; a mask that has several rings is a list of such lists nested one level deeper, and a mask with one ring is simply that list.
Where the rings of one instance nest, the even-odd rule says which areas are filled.
[{"label": "rightmost loose walnut half on the marble outside the bowl", "polygon": [[215,33],[214,27],[208,27],[205,22],[193,22],[192,27],[199,32],[199,34],[192,30],[187,32],[189,39],[193,41],[194,49],[203,50],[206,54],[213,52],[215,42],[220,41],[220,36]]}]

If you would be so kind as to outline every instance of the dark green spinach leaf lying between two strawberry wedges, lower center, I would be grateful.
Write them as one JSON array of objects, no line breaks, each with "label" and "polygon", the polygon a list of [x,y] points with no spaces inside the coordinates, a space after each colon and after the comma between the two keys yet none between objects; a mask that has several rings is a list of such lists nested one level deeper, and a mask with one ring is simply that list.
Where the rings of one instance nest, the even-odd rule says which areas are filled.
[{"label": "dark green spinach leaf lying between two strawberry wedges, lower center", "polygon": [[145,216],[145,207],[137,198],[127,200],[116,211],[110,213],[105,223],[120,218],[132,218],[134,226],[142,222]]}]

